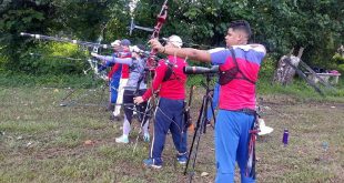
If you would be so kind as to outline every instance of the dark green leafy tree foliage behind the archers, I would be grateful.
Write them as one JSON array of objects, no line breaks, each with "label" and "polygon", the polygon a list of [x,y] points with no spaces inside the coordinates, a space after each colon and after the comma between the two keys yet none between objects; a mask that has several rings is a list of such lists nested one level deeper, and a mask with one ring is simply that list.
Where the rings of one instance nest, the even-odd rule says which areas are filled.
[{"label": "dark green leafy tree foliage behind the archers", "polygon": [[[132,14],[135,23],[152,28],[162,3],[162,0],[140,0]],[[169,18],[161,37],[179,34],[189,42],[186,47],[191,43],[224,45],[229,23],[245,19],[254,32],[252,42],[263,43],[272,60],[292,48],[304,47],[303,60],[311,65],[342,64],[328,62],[344,40],[341,0],[173,0],[168,6]],[[104,42],[129,38],[135,43],[146,42],[150,34],[141,30],[128,34],[131,13],[127,0],[6,0],[1,1],[0,11],[1,70],[21,71],[21,62],[26,62],[22,59],[29,51],[42,52],[42,47],[19,37],[22,31],[84,41],[95,41],[99,35],[103,35]],[[44,51],[59,52],[54,47]],[[74,71],[64,71],[69,72]]]}]

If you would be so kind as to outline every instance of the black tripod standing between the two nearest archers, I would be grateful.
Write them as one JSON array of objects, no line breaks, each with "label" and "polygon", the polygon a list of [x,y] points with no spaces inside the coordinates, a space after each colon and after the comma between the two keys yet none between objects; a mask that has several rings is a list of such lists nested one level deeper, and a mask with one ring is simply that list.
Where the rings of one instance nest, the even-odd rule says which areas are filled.
[{"label": "black tripod standing between the two nearest archers", "polygon": [[[192,182],[192,179],[194,175],[194,166],[195,166],[195,161],[198,157],[198,151],[199,151],[199,144],[200,144],[201,135],[206,132],[208,106],[209,106],[209,104],[210,104],[210,108],[212,110],[213,120],[215,121],[214,108],[213,108],[213,102],[212,102],[212,96],[211,96],[212,90],[210,89],[210,81],[211,81],[212,75],[213,75],[212,73],[206,73],[206,83],[202,82],[202,85],[205,88],[205,94],[203,95],[202,105],[201,105],[201,109],[199,112],[196,126],[194,129],[194,135],[192,139],[190,152],[189,152],[189,159],[188,159],[186,166],[184,170],[184,175],[186,175],[190,161],[192,161],[192,171],[189,172],[190,182]],[[195,148],[195,150],[193,150],[194,148]]]}]

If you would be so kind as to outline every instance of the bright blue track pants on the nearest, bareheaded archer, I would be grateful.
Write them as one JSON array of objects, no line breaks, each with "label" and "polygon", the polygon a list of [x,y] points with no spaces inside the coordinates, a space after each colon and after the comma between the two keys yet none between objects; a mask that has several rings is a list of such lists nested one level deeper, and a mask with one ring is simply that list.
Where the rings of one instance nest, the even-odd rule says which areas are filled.
[{"label": "bright blue track pants on the nearest, bareheaded archer", "polygon": [[216,183],[234,182],[235,161],[240,167],[241,182],[255,182],[255,180],[245,176],[249,132],[253,123],[254,115],[219,110],[215,123]]}]

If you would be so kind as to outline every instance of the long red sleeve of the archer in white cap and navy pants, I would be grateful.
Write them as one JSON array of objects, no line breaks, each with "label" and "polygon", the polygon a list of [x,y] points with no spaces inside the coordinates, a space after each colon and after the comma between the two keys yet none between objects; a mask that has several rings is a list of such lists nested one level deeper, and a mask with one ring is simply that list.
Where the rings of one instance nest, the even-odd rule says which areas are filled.
[{"label": "long red sleeve of the archer in white cap and navy pants", "polygon": [[162,80],[165,75],[166,70],[168,70],[168,67],[164,63],[164,61],[160,61],[160,63],[155,68],[155,75],[154,75],[154,79],[152,81],[152,88],[146,89],[146,91],[142,95],[142,99],[144,101],[148,101],[152,96],[152,93],[159,89],[159,87],[161,85]]}]

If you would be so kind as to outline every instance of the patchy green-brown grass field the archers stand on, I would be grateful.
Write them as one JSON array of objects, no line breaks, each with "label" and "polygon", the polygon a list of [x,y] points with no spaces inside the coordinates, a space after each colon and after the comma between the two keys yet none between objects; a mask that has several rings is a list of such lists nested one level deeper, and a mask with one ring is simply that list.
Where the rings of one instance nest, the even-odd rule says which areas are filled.
[{"label": "patchy green-brown grass field the archers stand on", "polygon": [[[203,93],[196,90],[194,119]],[[188,182],[183,166],[175,162],[171,135],[163,169],[145,169],[142,160],[148,157],[149,144],[141,136],[133,152],[139,123],[129,145],[117,144],[121,122],[110,121],[104,106],[77,105],[85,100],[59,106],[68,91],[0,87],[0,182]],[[100,102],[100,98],[88,98],[88,102]],[[263,118],[274,131],[257,140],[257,182],[344,182],[344,103],[305,102],[281,94],[260,98]],[[281,143],[284,129],[290,132],[287,146]],[[201,176],[203,172],[209,175]],[[213,130],[209,128],[201,136],[193,181],[209,183],[214,176]]]}]

